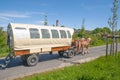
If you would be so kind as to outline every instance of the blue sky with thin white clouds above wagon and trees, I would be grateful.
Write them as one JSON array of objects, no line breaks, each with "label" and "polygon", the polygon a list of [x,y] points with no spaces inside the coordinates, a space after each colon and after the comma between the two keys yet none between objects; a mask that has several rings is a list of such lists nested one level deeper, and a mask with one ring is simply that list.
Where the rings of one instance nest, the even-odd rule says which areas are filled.
[{"label": "blue sky with thin white clouds above wagon and trees", "polygon": [[10,22],[43,25],[47,15],[50,26],[58,19],[59,26],[81,28],[84,18],[85,28],[93,30],[108,26],[112,3],[113,0],[0,0],[0,26],[6,29]]}]

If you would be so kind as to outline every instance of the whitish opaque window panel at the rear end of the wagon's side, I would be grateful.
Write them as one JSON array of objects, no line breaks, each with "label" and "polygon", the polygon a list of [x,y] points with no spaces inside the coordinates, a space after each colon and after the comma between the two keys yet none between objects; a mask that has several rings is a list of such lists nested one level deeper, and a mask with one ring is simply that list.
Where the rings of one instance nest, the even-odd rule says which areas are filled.
[{"label": "whitish opaque window panel at the rear end of the wagon's side", "polygon": [[27,36],[28,36],[26,28],[16,27],[14,29],[14,32],[15,32],[15,34],[14,34],[15,38],[23,39],[23,38],[27,38]]}]

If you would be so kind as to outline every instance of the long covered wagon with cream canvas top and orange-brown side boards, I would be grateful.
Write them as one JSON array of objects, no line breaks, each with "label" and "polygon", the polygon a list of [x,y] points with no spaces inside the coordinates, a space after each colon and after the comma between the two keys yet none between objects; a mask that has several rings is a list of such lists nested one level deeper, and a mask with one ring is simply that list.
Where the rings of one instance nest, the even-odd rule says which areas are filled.
[{"label": "long covered wagon with cream canvas top and orange-brown side boards", "polygon": [[72,45],[73,33],[73,29],[66,27],[10,23],[7,27],[10,50],[5,63],[0,66],[5,68],[16,56],[20,56],[28,66],[34,66],[39,61],[39,54],[54,51],[58,51],[60,56],[73,57],[77,47],[75,42]]}]

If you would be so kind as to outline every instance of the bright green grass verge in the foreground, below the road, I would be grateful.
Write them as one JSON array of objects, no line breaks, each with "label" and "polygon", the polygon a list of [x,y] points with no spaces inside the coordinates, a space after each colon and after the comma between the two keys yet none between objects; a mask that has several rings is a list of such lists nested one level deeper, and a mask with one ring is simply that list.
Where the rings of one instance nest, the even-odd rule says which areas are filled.
[{"label": "bright green grass verge in the foreground, below the road", "polygon": [[120,80],[118,56],[100,57],[84,64],[18,78],[16,80]]}]

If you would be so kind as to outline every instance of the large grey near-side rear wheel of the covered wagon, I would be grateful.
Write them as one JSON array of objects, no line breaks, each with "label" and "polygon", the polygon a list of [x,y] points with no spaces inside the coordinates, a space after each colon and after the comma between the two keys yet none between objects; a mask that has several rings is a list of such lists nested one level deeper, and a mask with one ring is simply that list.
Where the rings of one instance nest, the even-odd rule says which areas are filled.
[{"label": "large grey near-side rear wheel of the covered wagon", "polygon": [[35,54],[31,54],[27,57],[28,66],[35,66],[38,63],[38,61],[39,61],[38,56]]}]

